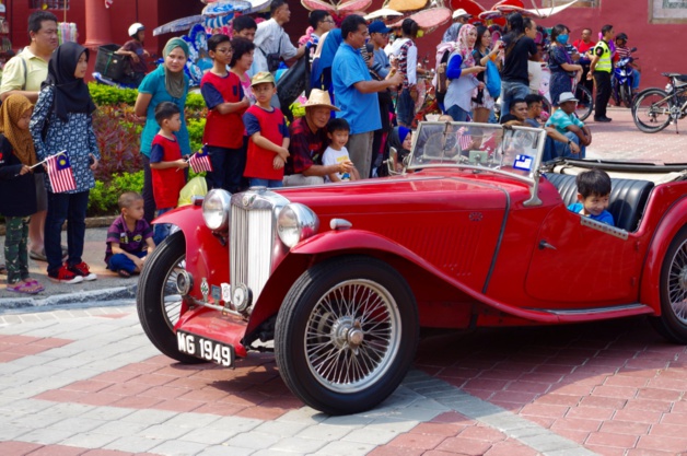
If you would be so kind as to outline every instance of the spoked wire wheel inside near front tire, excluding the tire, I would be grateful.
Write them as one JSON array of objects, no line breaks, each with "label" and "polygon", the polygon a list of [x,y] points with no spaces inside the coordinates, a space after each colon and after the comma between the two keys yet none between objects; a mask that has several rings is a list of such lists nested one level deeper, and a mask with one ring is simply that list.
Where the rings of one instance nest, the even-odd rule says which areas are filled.
[{"label": "spoked wire wheel inside near front tire, excluding the tire", "polygon": [[375,382],[398,354],[400,314],[391,293],[369,280],[328,290],[307,321],[304,348],[313,376],[337,393]]}]

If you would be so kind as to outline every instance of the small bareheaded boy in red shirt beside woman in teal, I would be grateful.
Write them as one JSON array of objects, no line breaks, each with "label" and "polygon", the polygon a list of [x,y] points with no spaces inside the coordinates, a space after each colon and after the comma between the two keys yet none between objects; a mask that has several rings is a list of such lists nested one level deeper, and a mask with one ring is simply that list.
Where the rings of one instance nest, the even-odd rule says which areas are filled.
[{"label": "small bareheaded boy in red shirt beside woman in teal", "polygon": [[[182,157],[182,149],[174,136],[175,131],[182,129],[179,108],[174,103],[162,102],[155,107],[155,120],[160,131],[153,138],[150,150],[150,169],[160,217],[176,208],[179,191],[186,185],[186,174],[178,171],[188,167],[188,162]],[[155,245],[170,235],[170,227],[167,223],[155,225]]]}]

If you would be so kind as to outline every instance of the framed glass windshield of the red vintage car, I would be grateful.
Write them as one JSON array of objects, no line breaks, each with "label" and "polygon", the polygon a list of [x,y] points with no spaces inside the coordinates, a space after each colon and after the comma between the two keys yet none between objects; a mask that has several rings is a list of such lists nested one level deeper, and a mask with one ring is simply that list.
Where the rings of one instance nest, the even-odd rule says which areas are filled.
[{"label": "framed glass windshield of the red vintage car", "polygon": [[546,131],[492,124],[420,122],[412,138],[408,169],[464,167],[534,182]]}]

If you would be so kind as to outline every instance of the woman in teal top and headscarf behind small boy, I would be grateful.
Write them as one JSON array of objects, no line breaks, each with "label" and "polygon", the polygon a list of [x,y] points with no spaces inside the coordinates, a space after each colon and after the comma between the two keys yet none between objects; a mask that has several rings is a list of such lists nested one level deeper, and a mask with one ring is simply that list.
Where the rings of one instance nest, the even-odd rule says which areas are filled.
[{"label": "woman in teal top and headscarf behind small boy", "polygon": [[149,223],[155,217],[152,176],[150,173],[150,152],[153,138],[160,130],[155,121],[155,108],[162,102],[172,102],[182,112],[182,129],[175,133],[182,149],[182,155],[190,155],[188,130],[184,119],[184,107],[188,95],[188,77],[184,73],[188,60],[188,45],[182,38],[172,38],[163,50],[164,61],[141,82],[136,98],[136,115],[144,119],[145,126],[141,133],[141,154],[143,155],[143,218]]}]

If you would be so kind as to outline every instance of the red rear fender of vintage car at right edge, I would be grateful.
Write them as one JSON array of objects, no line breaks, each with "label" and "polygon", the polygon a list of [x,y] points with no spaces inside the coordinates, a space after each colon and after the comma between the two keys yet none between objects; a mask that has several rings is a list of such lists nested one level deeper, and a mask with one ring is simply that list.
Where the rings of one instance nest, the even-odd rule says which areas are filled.
[{"label": "red rear fender of vintage car at right edge", "polygon": [[687,224],[687,198],[677,200],[661,218],[651,237],[642,269],[640,302],[661,315],[661,267],[663,258],[677,232]]}]

